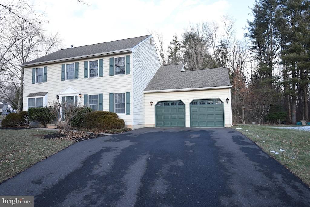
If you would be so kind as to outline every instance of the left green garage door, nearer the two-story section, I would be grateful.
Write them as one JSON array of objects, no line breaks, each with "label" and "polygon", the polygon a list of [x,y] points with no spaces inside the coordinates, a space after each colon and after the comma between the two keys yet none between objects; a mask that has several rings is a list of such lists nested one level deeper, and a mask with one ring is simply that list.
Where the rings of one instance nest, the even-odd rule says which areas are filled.
[{"label": "left green garage door, nearer the two-story section", "polygon": [[182,101],[160,101],[155,105],[156,127],[185,127]]}]

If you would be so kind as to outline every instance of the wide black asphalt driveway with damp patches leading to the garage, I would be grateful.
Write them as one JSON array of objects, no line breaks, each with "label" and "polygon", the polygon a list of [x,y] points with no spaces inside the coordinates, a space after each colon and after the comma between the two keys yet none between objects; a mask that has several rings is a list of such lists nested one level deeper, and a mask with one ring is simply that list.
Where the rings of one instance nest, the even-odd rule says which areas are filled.
[{"label": "wide black asphalt driveway with damp patches leading to the garage", "polygon": [[34,206],[309,206],[310,188],[232,128],[78,142],[0,185]]}]

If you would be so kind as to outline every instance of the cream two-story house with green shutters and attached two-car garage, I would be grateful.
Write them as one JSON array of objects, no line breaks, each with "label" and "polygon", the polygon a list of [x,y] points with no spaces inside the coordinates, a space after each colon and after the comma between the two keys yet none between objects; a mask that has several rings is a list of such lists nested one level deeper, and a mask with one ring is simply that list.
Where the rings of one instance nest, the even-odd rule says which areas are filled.
[{"label": "cream two-story house with green shutters and attached two-car garage", "polygon": [[[21,66],[25,68],[24,110],[70,100],[115,112],[133,129],[232,124],[231,104],[226,103],[232,87],[227,69],[183,71],[182,64],[161,66],[151,35],[71,47]],[[206,115],[207,124],[199,113],[198,124],[194,121],[194,111],[204,110],[201,100],[209,103],[205,110],[211,110],[211,100],[213,110],[221,111],[213,115],[214,120]]]}]

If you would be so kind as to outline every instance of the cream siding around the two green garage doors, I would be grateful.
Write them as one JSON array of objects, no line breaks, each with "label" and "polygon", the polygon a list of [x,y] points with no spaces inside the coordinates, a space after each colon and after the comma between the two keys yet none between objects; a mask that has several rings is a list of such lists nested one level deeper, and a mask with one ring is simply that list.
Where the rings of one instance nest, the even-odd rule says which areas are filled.
[{"label": "cream siding around the two green garage doors", "polygon": [[[230,101],[230,88],[201,90],[201,91],[183,91],[183,92],[160,92],[160,93],[145,93],[145,126],[155,127],[155,104],[158,101],[177,101],[181,100],[185,104],[185,126],[190,127],[190,110],[189,104],[194,99],[220,99],[224,102],[224,123],[225,127],[232,126],[232,113]],[[229,99],[228,104],[226,99]],[[150,105],[153,102],[153,106]]]}]

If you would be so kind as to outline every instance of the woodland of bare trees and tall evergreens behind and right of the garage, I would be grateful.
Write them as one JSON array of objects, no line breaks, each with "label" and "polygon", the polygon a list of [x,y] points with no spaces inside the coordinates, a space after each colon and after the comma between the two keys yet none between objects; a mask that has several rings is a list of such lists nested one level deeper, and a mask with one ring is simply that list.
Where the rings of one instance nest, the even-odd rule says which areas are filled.
[{"label": "woodland of bare trees and tall evergreens behind and right of the garage", "polygon": [[190,25],[166,51],[155,32],[162,65],[227,67],[235,124],[309,122],[310,2],[256,0],[252,14],[244,40],[230,16]]}]

